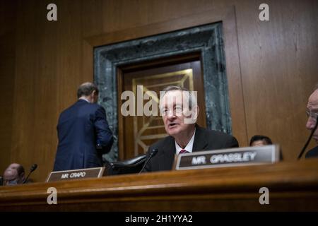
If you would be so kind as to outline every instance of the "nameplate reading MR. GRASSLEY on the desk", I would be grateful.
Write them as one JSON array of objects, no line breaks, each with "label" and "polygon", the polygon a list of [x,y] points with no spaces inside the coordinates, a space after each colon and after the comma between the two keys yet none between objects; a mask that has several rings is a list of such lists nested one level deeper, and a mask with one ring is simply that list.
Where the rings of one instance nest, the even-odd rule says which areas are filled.
[{"label": "nameplate reading MR. GRASSLEY on the desk", "polygon": [[278,160],[278,145],[205,150],[178,155],[175,169],[204,169],[212,167],[258,165],[278,162]]}]

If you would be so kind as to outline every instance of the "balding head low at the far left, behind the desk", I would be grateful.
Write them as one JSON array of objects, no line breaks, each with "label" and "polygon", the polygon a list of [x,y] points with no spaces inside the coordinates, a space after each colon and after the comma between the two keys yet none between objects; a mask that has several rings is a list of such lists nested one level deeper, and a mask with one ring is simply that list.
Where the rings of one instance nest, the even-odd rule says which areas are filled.
[{"label": "balding head low at the far left, behind the desk", "polygon": [[4,171],[3,185],[23,184],[25,181],[25,170],[22,165],[12,163]]}]

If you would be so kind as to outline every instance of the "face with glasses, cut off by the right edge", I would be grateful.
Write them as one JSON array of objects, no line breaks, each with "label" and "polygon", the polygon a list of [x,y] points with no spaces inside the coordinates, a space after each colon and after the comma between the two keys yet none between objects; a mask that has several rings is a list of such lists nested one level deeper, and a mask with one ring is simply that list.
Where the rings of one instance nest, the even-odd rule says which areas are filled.
[{"label": "face with glasses, cut off by the right edge", "polygon": [[[310,95],[308,99],[307,110],[311,114],[310,117],[308,117],[306,127],[307,129],[312,130],[314,129],[314,125],[316,124],[316,119],[314,118],[314,116],[317,117],[318,114],[318,89],[315,90],[314,93],[312,93],[312,95]],[[314,135],[312,136],[312,138],[314,138],[314,140],[318,143],[318,129],[314,131]]]}]

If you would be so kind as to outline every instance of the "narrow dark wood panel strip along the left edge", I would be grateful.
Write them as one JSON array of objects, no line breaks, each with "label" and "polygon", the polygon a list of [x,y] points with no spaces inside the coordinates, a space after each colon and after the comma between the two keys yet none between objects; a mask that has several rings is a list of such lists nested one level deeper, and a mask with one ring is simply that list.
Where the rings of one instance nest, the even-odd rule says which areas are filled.
[{"label": "narrow dark wood panel strip along the left edge", "polygon": [[0,175],[11,161],[16,63],[16,1],[0,2]]}]

